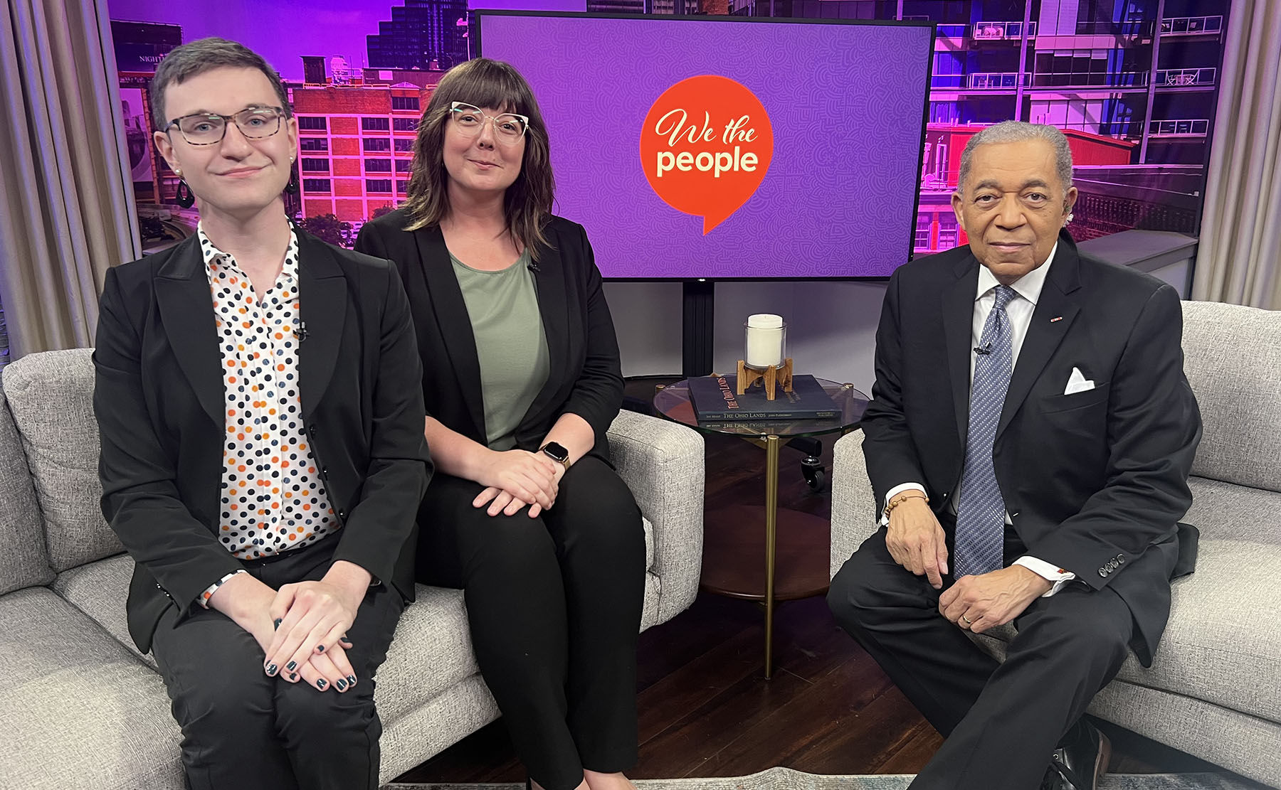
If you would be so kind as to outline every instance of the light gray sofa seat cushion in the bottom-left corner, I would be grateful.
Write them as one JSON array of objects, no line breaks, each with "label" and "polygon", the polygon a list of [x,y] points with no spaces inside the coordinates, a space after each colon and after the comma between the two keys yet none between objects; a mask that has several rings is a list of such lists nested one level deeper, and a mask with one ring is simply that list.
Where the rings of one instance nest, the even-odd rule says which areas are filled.
[{"label": "light gray sofa seat cushion in the bottom-left corner", "polygon": [[0,787],[181,790],[160,676],[46,588],[0,597]]}]

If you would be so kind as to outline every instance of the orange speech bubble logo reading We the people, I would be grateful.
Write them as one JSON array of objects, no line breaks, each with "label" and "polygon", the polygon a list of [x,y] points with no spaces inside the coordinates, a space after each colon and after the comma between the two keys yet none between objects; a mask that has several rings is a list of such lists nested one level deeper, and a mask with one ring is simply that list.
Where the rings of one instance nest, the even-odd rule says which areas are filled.
[{"label": "orange speech bubble logo reading We the people", "polygon": [[728,77],[681,79],[640,129],[640,166],[673,209],[703,218],[703,236],[756,193],[774,157],[774,128],[756,93]]}]

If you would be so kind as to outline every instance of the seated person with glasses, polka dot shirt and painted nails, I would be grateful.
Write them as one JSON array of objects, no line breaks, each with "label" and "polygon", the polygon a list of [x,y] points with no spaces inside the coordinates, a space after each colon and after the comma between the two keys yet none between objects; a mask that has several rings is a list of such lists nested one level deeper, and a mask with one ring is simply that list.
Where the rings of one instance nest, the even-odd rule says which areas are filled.
[{"label": "seated person with glasses, polka dot shirt and painted nails", "polygon": [[193,790],[378,786],[374,672],[414,595],[432,475],[398,271],[295,228],[297,122],[259,55],[202,38],[151,82],[195,236],[108,271],[102,513]]}]

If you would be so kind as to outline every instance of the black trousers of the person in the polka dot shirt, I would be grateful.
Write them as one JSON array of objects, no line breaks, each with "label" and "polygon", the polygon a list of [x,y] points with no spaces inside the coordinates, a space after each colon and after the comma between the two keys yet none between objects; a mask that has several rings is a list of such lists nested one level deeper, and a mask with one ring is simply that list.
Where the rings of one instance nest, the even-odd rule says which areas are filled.
[{"label": "black trousers of the person in the polka dot shirt", "polygon": [[[269,561],[246,562],[263,583],[319,580],[337,535]],[[371,586],[347,630],[356,686],[319,691],[263,673],[257,641],[215,609],[178,607],[160,618],[151,653],[173,716],[182,726],[182,762],[193,790],[354,790],[378,787],[374,670],[387,657],[405,608],[386,584]]]}]

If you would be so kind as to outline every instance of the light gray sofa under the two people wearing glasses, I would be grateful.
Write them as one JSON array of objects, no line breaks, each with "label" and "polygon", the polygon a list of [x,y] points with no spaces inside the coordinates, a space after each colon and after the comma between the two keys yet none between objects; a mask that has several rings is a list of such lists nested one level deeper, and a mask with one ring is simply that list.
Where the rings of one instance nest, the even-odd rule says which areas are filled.
[{"label": "light gray sofa under the two people wearing glasses", "polygon": [[[0,789],[181,790],[164,684],[126,630],[133,563],[99,512],[90,352],[27,356],[0,383]],[[647,629],[698,590],[703,443],[628,411],[608,438],[646,516]],[[457,590],[419,586],[377,681],[384,782],[498,716]]]}]

